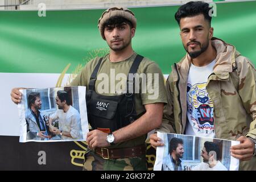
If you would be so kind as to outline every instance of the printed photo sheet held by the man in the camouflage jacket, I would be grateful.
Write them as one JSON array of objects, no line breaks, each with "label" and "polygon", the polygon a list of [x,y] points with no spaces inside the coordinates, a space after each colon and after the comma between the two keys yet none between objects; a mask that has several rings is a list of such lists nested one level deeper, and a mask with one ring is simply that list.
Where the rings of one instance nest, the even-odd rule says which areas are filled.
[{"label": "printed photo sheet held by the man in the camouflage jacket", "polygon": [[230,147],[240,144],[238,141],[160,132],[157,135],[164,146],[156,148],[154,171],[238,171],[239,160],[230,155]]}]

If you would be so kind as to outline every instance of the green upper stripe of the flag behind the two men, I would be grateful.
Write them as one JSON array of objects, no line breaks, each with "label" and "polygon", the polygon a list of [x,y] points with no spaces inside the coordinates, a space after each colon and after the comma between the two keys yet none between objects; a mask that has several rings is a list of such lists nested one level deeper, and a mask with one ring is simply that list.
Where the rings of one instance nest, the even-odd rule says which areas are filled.
[{"label": "green upper stripe of the flag behind the two men", "polygon": [[[256,1],[218,3],[214,36],[256,63]],[[185,55],[174,14],[179,6],[133,8],[138,26],[133,48],[164,74]],[[108,51],[97,29],[103,10],[0,11],[0,72],[67,73]]]}]

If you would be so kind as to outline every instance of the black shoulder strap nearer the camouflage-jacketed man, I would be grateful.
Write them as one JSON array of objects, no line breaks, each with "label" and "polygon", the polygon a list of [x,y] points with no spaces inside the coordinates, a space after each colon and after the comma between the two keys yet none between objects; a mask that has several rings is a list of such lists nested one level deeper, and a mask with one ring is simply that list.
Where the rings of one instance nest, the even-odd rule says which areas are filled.
[{"label": "black shoulder strap nearer the camouflage-jacketed man", "polygon": [[[134,92],[134,80],[135,80],[134,74],[137,73],[137,70],[139,68],[139,64],[141,64],[142,59],[143,59],[143,56],[137,55],[135,57],[135,60],[133,61],[133,64],[131,65],[130,71],[127,75],[127,85],[126,85],[127,93],[133,93]],[[131,75],[132,77],[129,77],[129,75]]]}]

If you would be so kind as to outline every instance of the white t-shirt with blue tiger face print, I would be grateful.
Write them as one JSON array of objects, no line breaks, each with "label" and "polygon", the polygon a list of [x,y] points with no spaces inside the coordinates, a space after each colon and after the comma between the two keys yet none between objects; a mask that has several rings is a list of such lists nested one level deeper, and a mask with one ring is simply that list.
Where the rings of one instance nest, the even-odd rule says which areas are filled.
[{"label": "white t-shirt with blue tiger face print", "polygon": [[191,64],[187,85],[186,135],[214,138],[213,103],[206,90],[207,80],[213,72],[213,60],[204,67]]}]

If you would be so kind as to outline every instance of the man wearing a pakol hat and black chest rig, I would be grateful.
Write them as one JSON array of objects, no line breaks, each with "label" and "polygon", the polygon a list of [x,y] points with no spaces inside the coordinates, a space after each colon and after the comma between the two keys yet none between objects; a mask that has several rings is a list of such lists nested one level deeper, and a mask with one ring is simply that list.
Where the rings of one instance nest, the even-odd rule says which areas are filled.
[{"label": "man wearing a pakol hat and black chest rig", "polygon": [[[84,170],[147,169],[145,140],[149,131],[160,126],[167,96],[158,65],[131,47],[136,26],[132,11],[123,7],[106,10],[98,29],[110,52],[89,61],[71,83],[86,86],[88,121],[93,129],[86,139]],[[13,89],[15,103],[19,94]]]}]

